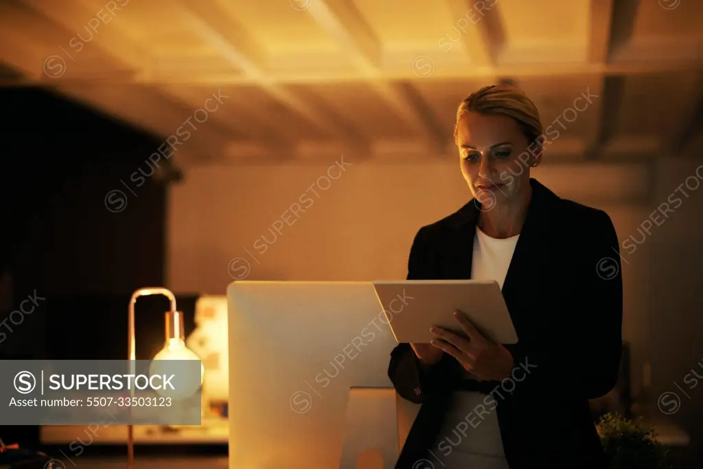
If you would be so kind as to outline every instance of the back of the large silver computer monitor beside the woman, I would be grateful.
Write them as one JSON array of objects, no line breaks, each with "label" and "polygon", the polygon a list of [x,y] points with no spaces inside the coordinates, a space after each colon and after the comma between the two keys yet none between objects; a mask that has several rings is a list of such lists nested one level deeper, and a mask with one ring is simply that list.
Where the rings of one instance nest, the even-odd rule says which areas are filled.
[{"label": "back of the large silver computer monitor beside the woman", "polygon": [[338,469],[349,389],[392,387],[373,284],[238,281],[227,300],[229,467]]}]

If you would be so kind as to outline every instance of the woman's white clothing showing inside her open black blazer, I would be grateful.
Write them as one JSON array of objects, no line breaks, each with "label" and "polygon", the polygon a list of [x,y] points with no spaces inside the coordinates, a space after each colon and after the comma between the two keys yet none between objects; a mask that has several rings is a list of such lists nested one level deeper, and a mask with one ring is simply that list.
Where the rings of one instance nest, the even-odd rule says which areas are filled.
[{"label": "woman's white clothing showing inside her open black blazer", "polygon": [[[495,280],[503,288],[519,237],[491,238],[477,227],[471,278]],[[499,399],[499,395],[491,397],[473,391],[453,393],[432,449],[444,464],[443,469],[508,469],[495,410]]]}]

